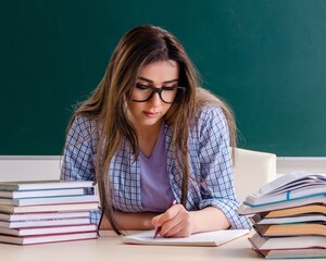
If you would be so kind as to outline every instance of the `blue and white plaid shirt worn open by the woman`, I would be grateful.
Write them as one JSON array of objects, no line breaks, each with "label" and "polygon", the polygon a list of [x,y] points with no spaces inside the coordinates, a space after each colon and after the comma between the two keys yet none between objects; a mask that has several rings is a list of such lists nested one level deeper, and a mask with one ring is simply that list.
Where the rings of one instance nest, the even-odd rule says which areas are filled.
[{"label": "blue and white plaid shirt worn open by the woman", "polygon": [[[95,162],[99,135],[97,123],[77,116],[67,134],[61,178],[95,181]],[[170,184],[177,202],[181,198],[183,175],[176,167],[172,150],[172,128],[165,128],[166,164]],[[189,133],[190,175],[186,209],[200,210],[209,206],[224,212],[231,228],[250,228],[246,216],[236,212],[238,200],[234,191],[233,165],[229,153],[229,133],[220,108],[206,107],[196,117]],[[113,206],[124,212],[142,212],[140,165],[128,144],[112,160],[109,169]],[[95,181],[96,182],[96,181]],[[93,212],[98,223],[100,213]]]}]

